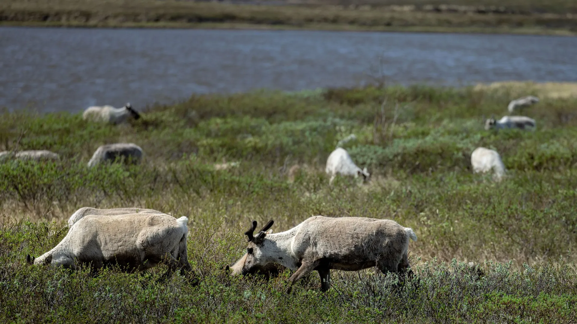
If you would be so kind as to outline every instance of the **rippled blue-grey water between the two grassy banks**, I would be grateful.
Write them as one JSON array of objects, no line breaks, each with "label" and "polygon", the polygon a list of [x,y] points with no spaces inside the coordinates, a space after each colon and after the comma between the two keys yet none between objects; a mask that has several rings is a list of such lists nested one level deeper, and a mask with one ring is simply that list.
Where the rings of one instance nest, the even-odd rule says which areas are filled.
[{"label": "rippled blue-grey water between the two grassy banks", "polygon": [[577,81],[577,37],[0,28],[0,107],[136,109],[192,93],[389,82]]}]

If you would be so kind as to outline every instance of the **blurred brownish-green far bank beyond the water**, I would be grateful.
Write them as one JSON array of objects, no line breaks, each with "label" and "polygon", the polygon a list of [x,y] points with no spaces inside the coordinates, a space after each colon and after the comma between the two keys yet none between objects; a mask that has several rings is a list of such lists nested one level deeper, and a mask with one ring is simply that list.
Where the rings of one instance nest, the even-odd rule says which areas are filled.
[{"label": "blurred brownish-green far bank beyond the water", "polygon": [[[267,3],[263,1],[262,3]],[[460,2],[459,2],[460,3]],[[459,4],[457,3],[457,5]],[[434,1],[336,5],[240,5],[192,1],[8,0],[0,24],[51,27],[321,29],[340,31],[486,32],[575,35],[577,5],[488,1],[443,6]],[[486,9],[479,9],[481,8]],[[561,10],[563,8],[563,10]]]}]

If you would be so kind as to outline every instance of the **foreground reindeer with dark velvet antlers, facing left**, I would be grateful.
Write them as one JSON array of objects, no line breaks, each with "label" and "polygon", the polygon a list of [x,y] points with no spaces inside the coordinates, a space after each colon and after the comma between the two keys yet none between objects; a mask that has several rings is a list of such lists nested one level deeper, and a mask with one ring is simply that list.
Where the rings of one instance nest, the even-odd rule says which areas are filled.
[{"label": "foreground reindeer with dark velvet antlers, facing left", "polygon": [[[321,290],[330,288],[331,269],[358,271],[376,266],[383,273],[411,274],[407,251],[409,240],[417,240],[413,229],[392,220],[365,217],[313,216],[286,232],[267,234],[269,221],[257,235],[257,222],[245,232],[249,245],[242,274],[280,263],[297,270],[290,285],[313,270],[319,272]],[[290,290],[290,288],[289,288]]]}]

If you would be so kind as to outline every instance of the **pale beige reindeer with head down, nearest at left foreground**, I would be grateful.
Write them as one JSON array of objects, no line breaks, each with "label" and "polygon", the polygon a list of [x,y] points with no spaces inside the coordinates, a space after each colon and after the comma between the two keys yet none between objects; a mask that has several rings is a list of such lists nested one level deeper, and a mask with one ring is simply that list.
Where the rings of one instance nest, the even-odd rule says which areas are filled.
[{"label": "pale beige reindeer with head down, nearest at left foreground", "polygon": [[168,270],[162,278],[166,278],[177,269],[181,274],[192,270],[186,255],[187,224],[187,217],[167,214],[88,215],[74,223],[52,250],[26,259],[29,264],[71,269],[89,264],[94,272],[110,265],[144,271],[165,263]]}]

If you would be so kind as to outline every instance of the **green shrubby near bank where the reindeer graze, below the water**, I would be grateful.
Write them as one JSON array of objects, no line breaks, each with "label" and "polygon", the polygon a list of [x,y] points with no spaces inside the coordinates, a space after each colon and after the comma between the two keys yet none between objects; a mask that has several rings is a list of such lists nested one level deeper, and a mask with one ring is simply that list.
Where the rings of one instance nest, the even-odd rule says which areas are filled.
[{"label": "green shrubby near bank where the reindeer graze, below the water", "polygon": [[[102,126],[78,114],[4,113],[0,150],[49,149],[54,164],[0,164],[2,322],[517,322],[577,318],[577,115],[575,98],[544,97],[524,114],[537,130],[485,131],[532,88],[332,89],[193,96],[156,106],[131,125]],[[324,162],[339,140],[372,174],[338,178]],[[93,151],[134,142],[144,163],[87,169]],[[496,149],[508,178],[473,175],[470,153]],[[239,162],[216,171],[215,163]],[[301,171],[288,181],[291,165]],[[189,259],[201,278],[155,279],[115,269],[91,277],[24,265],[65,235],[81,206],[143,206],[190,218]],[[395,288],[369,269],[314,274],[284,293],[221,270],[243,254],[249,221],[283,231],[314,214],[389,218],[413,227],[420,282]],[[454,260],[455,259],[455,260]],[[469,268],[474,261],[482,269]]]}]

